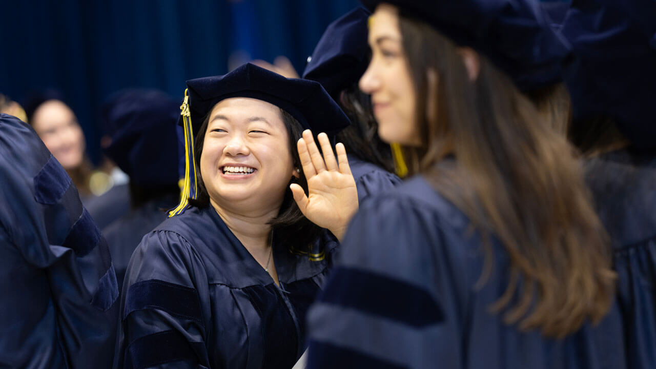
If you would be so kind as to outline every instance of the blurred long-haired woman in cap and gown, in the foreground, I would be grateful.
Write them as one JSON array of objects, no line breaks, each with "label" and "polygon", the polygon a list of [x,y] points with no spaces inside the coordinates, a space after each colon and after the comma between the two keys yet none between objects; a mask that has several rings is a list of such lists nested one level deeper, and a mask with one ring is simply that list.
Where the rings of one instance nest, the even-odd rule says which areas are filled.
[{"label": "blurred long-haired woman in cap and gown, in the foreground", "polygon": [[309,367],[621,367],[604,228],[520,93],[550,65],[516,53],[543,46],[539,5],[365,3],[360,87],[414,177],[354,217],[308,316]]}]

